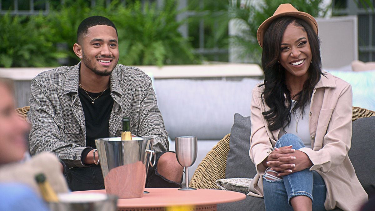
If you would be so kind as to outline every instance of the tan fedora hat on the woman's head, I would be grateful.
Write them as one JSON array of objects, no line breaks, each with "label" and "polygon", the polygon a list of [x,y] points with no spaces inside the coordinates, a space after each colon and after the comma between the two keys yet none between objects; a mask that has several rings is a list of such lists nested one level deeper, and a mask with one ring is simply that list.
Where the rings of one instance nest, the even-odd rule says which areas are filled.
[{"label": "tan fedora hat on the woman's head", "polygon": [[281,4],[279,5],[278,9],[276,9],[275,13],[271,17],[267,18],[267,20],[265,20],[258,28],[257,39],[260,47],[263,48],[264,33],[266,32],[268,26],[270,26],[272,21],[274,21],[276,18],[282,16],[293,16],[306,21],[306,23],[308,23],[312,27],[312,29],[314,29],[314,32],[318,35],[318,23],[314,17],[306,12],[298,11],[291,4]]}]

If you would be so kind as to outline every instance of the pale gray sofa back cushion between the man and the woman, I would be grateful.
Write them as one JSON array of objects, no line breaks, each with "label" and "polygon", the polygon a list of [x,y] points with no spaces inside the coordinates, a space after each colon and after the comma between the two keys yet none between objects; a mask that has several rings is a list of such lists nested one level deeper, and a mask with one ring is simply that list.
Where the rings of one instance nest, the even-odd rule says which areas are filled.
[{"label": "pale gray sofa back cushion between the man and the woman", "polygon": [[232,127],[234,113],[250,115],[251,90],[258,82],[254,78],[155,80],[157,105],[169,137],[222,139]]}]

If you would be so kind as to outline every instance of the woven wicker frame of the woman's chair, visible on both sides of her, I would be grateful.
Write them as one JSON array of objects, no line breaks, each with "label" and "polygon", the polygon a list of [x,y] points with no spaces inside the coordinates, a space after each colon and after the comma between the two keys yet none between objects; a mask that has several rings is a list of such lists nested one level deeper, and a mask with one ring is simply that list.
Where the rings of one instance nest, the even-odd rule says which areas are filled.
[{"label": "woven wicker frame of the woman's chair, visible on both sides of her", "polygon": [[[353,118],[355,121],[359,118],[375,116],[375,112],[360,107],[353,107]],[[206,155],[198,165],[190,181],[190,187],[193,188],[216,188],[216,180],[225,178],[226,158],[229,152],[230,134],[220,140]]]}]

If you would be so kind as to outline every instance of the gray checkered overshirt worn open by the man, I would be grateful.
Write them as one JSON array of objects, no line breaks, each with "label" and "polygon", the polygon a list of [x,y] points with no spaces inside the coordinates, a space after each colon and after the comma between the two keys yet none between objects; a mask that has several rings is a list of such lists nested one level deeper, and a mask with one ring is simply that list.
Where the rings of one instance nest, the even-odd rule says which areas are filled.
[{"label": "gray checkered overshirt worn open by the man", "polygon": [[[86,124],[78,97],[80,65],[61,66],[31,81],[30,152],[54,152],[68,167],[84,167]],[[135,67],[117,65],[110,78],[114,99],[108,137],[121,136],[122,117],[130,117],[132,134],[153,137],[153,150],[168,151],[168,133],[152,88],[151,78]]]}]

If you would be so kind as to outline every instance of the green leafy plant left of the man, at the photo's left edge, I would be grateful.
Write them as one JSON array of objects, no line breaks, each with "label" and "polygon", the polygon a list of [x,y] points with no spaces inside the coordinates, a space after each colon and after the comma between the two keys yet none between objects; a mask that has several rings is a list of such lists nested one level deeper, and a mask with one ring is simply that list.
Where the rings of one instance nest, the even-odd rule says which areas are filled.
[{"label": "green leafy plant left of the man, at the photo's left edge", "polygon": [[0,18],[0,67],[56,66],[66,56],[54,46],[43,15]]}]

